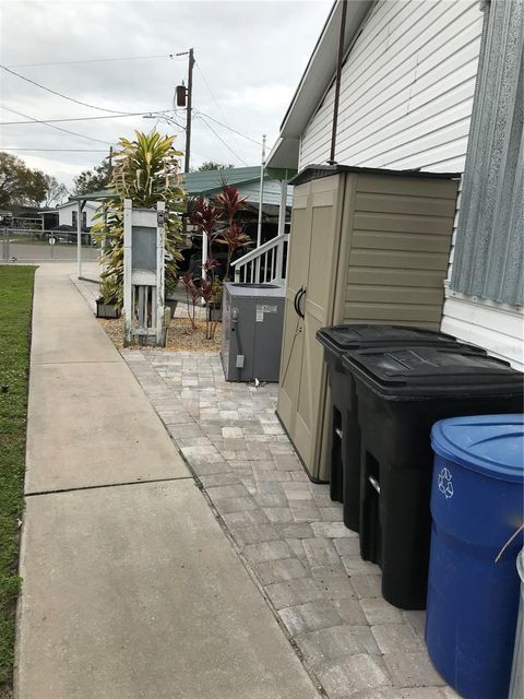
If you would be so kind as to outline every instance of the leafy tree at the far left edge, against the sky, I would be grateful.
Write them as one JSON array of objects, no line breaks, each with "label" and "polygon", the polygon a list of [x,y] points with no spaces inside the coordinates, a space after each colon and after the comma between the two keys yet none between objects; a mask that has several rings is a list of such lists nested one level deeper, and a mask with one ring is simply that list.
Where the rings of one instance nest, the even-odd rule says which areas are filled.
[{"label": "leafy tree at the far left edge, against the sky", "polygon": [[46,192],[44,173],[32,170],[15,155],[0,152],[0,209],[14,204],[38,206]]}]

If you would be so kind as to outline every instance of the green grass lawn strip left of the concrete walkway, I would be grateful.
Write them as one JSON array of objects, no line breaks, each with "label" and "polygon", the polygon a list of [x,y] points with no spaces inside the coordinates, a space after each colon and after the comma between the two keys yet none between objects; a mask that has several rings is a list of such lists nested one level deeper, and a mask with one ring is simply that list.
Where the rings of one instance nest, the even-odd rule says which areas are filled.
[{"label": "green grass lawn strip left of the concrete walkway", "polygon": [[14,647],[35,266],[0,265],[0,696]]}]

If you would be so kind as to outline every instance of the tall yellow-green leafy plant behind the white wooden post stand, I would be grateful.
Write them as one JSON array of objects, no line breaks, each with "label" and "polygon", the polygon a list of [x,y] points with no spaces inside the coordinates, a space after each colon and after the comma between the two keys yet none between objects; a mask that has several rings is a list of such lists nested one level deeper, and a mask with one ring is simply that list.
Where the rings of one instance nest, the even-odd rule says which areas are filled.
[{"label": "tall yellow-green leafy plant behind the white wooden post stand", "polygon": [[141,133],[135,139],[120,139],[114,153],[114,169],[109,189],[119,199],[109,200],[95,215],[94,238],[104,244],[106,269],[100,279],[118,306],[123,301],[123,200],[131,199],[133,208],[154,209],[158,201],[166,204],[165,233],[166,287],[176,285],[177,262],[181,259],[181,217],[186,197],[179,187],[178,158],[182,153],[174,147],[176,137],[157,131]]}]

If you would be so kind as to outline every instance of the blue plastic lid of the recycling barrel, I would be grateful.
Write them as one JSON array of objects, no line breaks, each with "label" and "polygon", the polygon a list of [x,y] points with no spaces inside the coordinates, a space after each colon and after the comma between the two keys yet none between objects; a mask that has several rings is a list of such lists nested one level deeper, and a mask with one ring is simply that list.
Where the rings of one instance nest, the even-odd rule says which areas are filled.
[{"label": "blue plastic lid of the recycling barrel", "polygon": [[524,482],[524,414],[450,417],[431,429],[433,450],[466,469]]}]

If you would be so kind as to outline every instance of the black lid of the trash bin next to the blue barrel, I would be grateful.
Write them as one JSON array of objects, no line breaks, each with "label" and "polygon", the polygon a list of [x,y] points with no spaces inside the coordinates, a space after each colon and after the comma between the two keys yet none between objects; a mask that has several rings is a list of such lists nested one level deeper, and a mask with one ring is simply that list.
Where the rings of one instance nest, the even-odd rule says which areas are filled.
[{"label": "black lid of the trash bin next to the blue barrel", "polygon": [[347,352],[343,365],[371,390],[391,400],[437,395],[520,395],[523,375],[475,350],[377,347]]}]

